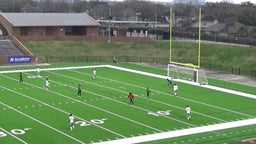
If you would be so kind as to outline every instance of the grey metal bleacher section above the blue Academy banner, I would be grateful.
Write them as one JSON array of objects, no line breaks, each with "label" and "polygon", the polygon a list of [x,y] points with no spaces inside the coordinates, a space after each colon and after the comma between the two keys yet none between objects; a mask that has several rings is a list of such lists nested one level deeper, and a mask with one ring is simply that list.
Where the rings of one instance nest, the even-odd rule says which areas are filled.
[{"label": "grey metal bleacher section above the blue Academy banner", "polygon": [[24,53],[11,40],[0,40],[0,56],[22,56]]}]

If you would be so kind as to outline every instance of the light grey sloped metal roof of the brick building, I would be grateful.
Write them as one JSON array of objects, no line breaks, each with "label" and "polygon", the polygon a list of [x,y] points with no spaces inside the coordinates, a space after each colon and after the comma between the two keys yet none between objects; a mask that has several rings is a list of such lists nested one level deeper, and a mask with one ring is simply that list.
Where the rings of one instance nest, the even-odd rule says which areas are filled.
[{"label": "light grey sloped metal roof of the brick building", "polygon": [[33,26],[99,26],[86,13],[0,13],[13,27]]}]

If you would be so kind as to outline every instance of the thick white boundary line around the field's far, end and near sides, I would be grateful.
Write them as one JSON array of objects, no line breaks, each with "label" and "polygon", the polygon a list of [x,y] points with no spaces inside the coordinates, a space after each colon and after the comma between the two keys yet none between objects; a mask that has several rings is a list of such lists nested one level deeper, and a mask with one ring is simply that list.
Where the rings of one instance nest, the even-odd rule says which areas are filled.
[{"label": "thick white boundary line around the field's far, end and near sides", "polygon": [[[126,72],[132,72],[136,74],[166,79],[167,76],[153,74],[149,72],[142,72],[138,70],[132,70],[128,68],[113,66],[113,65],[94,65],[94,66],[78,66],[78,67],[62,67],[62,68],[46,68],[41,69],[41,71],[50,71],[50,70],[69,70],[69,69],[81,69],[81,68],[97,68],[97,67],[108,67],[112,69],[122,70]],[[16,73],[16,72],[31,72],[31,71],[37,71],[36,69],[30,69],[30,70],[12,70],[12,71],[0,71],[0,74],[3,73]],[[200,85],[199,83],[192,82],[192,81],[186,81],[181,79],[175,79],[175,81],[186,83],[194,86],[204,87],[208,89],[213,89],[221,92],[226,92],[230,94],[235,94],[238,96],[248,97],[252,99],[256,99],[256,95],[248,94],[244,92],[239,92],[235,90],[229,90],[221,87],[211,86],[211,85]],[[256,124],[256,118],[253,119],[246,119],[246,120],[240,120],[240,121],[234,121],[234,122],[226,122],[221,124],[215,124],[215,125],[209,125],[209,126],[201,126],[201,127],[195,127],[195,128],[188,128],[183,130],[175,130],[170,132],[163,132],[163,133],[156,133],[156,134],[149,134],[149,135],[143,135],[143,136],[137,136],[137,137],[131,137],[131,138],[123,138],[118,140],[111,140],[106,142],[100,142],[98,144],[131,144],[131,143],[140,143],[140,142],[147,142],[147,141],[154,141],[154,140],[160,140],[160,139],[167,139],[167,138],[173,138],[178,136],[185,136],[185,135],[191,135],[191,134],[198,134],[203,132],[210,132],[210,131],[216,131],[216,130],[223,130],[228,128],[235,128],[240,126],[247,126],[247,125],[253,125]]]}]

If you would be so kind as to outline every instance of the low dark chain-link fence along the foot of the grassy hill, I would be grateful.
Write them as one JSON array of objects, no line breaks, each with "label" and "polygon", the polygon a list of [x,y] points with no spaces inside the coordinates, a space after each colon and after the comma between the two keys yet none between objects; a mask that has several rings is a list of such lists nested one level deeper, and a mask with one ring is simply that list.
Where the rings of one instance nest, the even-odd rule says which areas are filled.
[{"label": "low dark chain-link fence along the foot of the grassy hill", "polygon": [[[168,65],[168,58],[155,58],[155,57],[132,57],[132,56],[45,56],[43,62],[56,63],[56,62],[132,62],[132,63],[148,63],[154,65]],[[256,78],[256,69],[245,69],[232,66],[221,65],[208,65],[204,62],[201,63],[201,68],[217,71],[221,73],[243,75]]]}]

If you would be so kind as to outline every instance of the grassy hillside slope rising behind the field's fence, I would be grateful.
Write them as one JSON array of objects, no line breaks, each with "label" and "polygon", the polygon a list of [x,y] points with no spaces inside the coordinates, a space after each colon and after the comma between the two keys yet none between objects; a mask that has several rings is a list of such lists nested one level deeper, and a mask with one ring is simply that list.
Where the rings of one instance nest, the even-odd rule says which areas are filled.
[{"label": "grassy hillside slope rising behind the field's fence", "polygon": [[[169,41],[26,41],[23,44],[36,56],[135,56],[169,58]],[[198,43],[173,41],[173,60],[197,63]],[[256,69],[256,48],[219,43],[201,43],[201,66]]]}]

